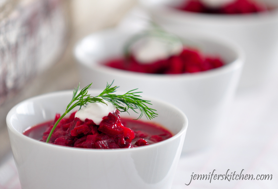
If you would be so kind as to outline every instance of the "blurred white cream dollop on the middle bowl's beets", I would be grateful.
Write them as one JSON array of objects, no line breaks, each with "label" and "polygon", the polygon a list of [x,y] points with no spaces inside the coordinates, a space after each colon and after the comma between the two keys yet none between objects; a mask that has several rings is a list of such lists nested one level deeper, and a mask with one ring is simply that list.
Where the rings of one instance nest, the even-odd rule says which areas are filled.
[{"label": "blurred white cream dollop on the middle bowl's beets", "polygon": [[132,46],[132,53],[141,64],[167,59],[181,51],[181,42],[169,42],[153,36],[142,38]]}]

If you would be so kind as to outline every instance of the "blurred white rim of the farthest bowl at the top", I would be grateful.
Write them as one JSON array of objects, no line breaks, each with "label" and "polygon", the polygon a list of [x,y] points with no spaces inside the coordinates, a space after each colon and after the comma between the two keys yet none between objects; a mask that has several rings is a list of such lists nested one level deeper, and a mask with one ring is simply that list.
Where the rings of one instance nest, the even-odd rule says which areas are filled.
[{"label": "blurred white rim of the farthest bowl at the top", "polygon": [[[148,0],[139,0],[139,3],[144,8],[150,10],[153,13],[160,14],[163,16],[163,18],[168,18],[167,20],[172,20],[174,17],[182,17],[184,18],[190,18],[190,19],[197,19],[197,20],[203,20],[203,21],[215,21],[215,22],[221,22],[225,23],[227,21],[232,21],[232,23],[237,24],[244,23],[249,24],[248,22],[251,21],[251,24],[256,22],[265,22],[269,20],[277,20],[278,17],[278,3],[274,5],[274,9],[271,11],[266,12],[258,12],[256,14],[250,13],[250,14],[206,14],[206,13],[196,13],[196,12],[190,12],[190,11],[182,11],[179,9],[176,9],[174,7],[169,6],[167,3],[157,3],[156,7],[152,6],[151,3],[149,3]],[[188,19],[186,21],[189,21]],[[233,22],[234,21],[234,22]],[[248,21],[248,22],[247,22]],[[247,22],[247,23],[246,23]],[[231,24],[231,23],[227,23]]]}]

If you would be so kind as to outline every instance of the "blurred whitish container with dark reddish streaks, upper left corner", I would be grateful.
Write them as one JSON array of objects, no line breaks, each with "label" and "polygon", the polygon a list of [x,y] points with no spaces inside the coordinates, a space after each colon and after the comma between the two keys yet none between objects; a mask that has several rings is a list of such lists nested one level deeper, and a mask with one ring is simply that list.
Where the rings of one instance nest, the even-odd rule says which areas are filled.
[{"label": "blurred whitish container with dark reddish streaks, upper left corner", "polygon": [[0,0],[0,105],[62,56],[67,0]]}]

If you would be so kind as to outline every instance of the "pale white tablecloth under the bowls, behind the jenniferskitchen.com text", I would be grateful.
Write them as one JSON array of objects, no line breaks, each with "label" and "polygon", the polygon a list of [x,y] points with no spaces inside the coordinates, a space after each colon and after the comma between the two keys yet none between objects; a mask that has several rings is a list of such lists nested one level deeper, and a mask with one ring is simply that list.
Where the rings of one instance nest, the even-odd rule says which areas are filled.
[{"label": "pale white tablecloth under the bowls, behind the jenniferskitchen.com text", "polygon": [[[278,77],[256,89],[239,90],[218,134],[213,146],[181,155],[172,189],[278,189]],[[220,177],[185,185],[193,172],[213,170],[214,174],[229,170],[229,175],[235,173],[234,179],[242,171],[255,180]],[[257,180],[258,174],[272,175],[272,180]],[[0,189],[20,189],[12,155],[0,165]]]}]

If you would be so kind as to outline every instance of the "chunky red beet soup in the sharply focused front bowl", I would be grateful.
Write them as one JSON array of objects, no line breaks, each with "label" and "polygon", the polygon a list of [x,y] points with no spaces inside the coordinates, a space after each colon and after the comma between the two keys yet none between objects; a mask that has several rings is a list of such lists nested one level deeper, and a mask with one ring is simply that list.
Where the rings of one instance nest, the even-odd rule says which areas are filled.
[{"label": "chunky red beet soup in the sharply focused front bowl", "polygon": [[[72,113],[69,118],[60,121],[49,143],[82,148],[130,148],[158,143],[173,136],[162,126],[120,118],[118,110],[103,117],[99,126],[88,119],[82,122],[74,115]],[[60,114],[57,114],[55,120],[33,126],[23,134],[45,142],[59,117]]]}]

